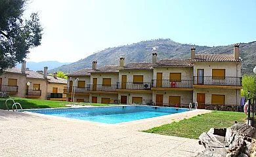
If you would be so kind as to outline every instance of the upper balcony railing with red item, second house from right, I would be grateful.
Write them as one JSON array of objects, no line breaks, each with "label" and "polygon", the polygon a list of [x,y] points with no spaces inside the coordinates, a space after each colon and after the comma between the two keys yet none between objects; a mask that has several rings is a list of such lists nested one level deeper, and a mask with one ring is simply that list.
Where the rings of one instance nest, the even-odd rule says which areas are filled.
[{"label": "upper balcony railing with red item, second house from right", "polygon": [[192,88],[193,80],[152,80],[154,88]]}]

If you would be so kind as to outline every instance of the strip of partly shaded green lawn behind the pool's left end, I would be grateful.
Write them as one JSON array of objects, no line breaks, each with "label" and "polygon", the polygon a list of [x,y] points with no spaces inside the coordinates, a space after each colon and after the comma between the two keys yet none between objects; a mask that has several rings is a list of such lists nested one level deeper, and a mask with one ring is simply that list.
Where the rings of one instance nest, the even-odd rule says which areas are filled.
[{"label": "strip of partly shaded green lawn behind the pool's left end", "polygon": [[[42,99],[26,99],[20,97],[10,97],[14,99],[16,103],[20,103],[23,109],[43,109],[43,108],[56,108],[56,107],[67,107],[70,102],[67,101],[53,101],[53,100],[42,100]],[[0,109],[7,109],[5,101],[7,98],[0,98]],[[101,104],[101,103],[76,103],[77,105],[91,105],[91,106],[107,106],[107,105],[119,105],[119,104]],[[13,102],[7,101],[9,109],[12,109]],[[18,107],[18,105],[17,105]],[[19,107],[18,107],[19,109]]]}]

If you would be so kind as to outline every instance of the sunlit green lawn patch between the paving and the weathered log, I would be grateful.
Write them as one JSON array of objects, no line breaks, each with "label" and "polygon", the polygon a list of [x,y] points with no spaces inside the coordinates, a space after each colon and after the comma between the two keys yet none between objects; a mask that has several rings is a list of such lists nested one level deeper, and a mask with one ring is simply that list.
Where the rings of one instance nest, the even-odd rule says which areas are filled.
[{"label": "sunlit green lawn patch between the paving and the weathered log", "polygon": [[238,112],[213,111],[212,113],[200,114],[179,122],[145,130],[144,132],[198,139],[203,132],[209,131],[210,128],[228,128],[235,121],[245,122],[246,115]]}]

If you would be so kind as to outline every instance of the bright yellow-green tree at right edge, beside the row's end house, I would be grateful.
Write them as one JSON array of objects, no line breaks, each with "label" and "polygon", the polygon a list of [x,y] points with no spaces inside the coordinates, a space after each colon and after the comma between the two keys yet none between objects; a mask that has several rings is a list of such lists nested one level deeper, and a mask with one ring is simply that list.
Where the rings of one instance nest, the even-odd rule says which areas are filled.
[{"label": "bright yellow-green tree at right edge, beside the row's end house", "polygon": [[253,75],[244,75],[242,79],[242,86],[241,96],[248,97],[249,91],[249,97],[252,99],[255,94],[255,77]]}]

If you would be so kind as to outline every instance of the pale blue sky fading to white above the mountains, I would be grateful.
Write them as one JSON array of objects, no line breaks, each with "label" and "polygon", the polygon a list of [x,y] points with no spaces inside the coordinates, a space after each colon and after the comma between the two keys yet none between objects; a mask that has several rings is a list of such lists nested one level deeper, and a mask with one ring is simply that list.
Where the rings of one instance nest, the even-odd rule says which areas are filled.
[{"label": "pale blue sky fading to white above the mountains", "polygon": [[150,39],[219,46],[256,41],[256,1],[33,0],[44,35],[28,61],[73,62]]}]

